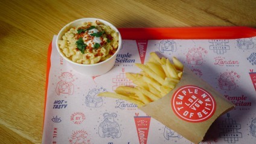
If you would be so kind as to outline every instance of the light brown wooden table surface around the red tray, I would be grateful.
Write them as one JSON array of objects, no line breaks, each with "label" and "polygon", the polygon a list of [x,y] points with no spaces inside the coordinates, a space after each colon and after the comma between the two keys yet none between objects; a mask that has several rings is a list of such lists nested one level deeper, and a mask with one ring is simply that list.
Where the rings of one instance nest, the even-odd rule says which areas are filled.
[{"label": "light brown wooden table surface around the red tray", "polygon": [[46,58],[53,35],[75,19],[117,28],[256,27],[256,1],[0,1],[0,143],[41,143]]}]

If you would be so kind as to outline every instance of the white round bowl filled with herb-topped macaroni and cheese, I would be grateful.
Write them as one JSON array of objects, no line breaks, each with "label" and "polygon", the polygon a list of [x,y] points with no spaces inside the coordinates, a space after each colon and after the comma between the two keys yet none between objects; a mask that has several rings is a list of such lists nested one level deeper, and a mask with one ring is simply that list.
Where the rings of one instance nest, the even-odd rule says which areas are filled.
[{"label": "white round bowl filled with herb-topped macaroni and cheese", "polygon": [[84,18],[60,30],[56,47],[72,68],[88,76],[98,76],[114,66],[121,43],[120,32],[114,25],[106,20]]}]

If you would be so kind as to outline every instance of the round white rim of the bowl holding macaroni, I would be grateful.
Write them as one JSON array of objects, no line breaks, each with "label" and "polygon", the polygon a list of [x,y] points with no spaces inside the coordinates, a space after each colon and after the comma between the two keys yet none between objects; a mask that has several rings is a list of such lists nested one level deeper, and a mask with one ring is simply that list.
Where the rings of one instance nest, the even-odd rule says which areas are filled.
[{"label": "round white rim of the bowl holding macaroni", "polygon": [[[114,29],[114,31],[116,31],[118,33],[118,48],[117,48],[117,51],[114,53],[114,55],[110,56],[108,59],[106,59],[105,61],[102,61],[102,62],[98,62],[96,64],[79,64],[77,62],[74,62],[72,61],[71,59],[67,58],[60,50],[59,48],[59,44],[58,44],[58,40],[59,40],[59,37],[62,37],[62,34],[63,31],[65,31],[70,25],[72,25],[72,23],[75,23],[75,22],[95,22],[95,20],[99,20],[100,22],[104,23],[104,25],[107,25],[107,26],[110,26],[110,28]],[[110,61],[110,59],[114,58],[117,53],[120,51],[121,49],[121,45],[122,45],[122,38],[121,38],[121,34],[120,32],[118,31],[118,29],[112,25],[111,23],[107,22],[106,20],[103,20],[103,19],[98,19],[98,18],[91,18],[91,17],[87,17],[87,18],[82,18],[82,19],[77,19],[77,20],[73,20],[72,22],[69,22],[68,24],[66,24],[65,26],[63,26],[62,29],[60,29],[59,33],[57,34],[57,37],[56,37],[56,48],[57,48],[57,51],[59,52],[59,54],[64,58],[66,59],[66,61],[68,62],[71,62],[72,64],[75,64],[75,65],[79,65],[79,66],[82,66],[82,67],[93,67],[93,66],[96,66],[96,65],[101,65],[101,64],[104,64],[108,61]]]}]

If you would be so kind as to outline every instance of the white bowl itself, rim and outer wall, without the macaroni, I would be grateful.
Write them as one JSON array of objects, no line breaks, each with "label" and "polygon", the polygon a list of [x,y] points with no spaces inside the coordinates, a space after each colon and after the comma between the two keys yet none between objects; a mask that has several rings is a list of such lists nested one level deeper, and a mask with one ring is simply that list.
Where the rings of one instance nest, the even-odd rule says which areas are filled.
[{"label": "white bowl itself, rim and outer wall, without the macaroni", "polygon": [[[62,51],[59,48],[59,44],[57,43],[58,40],[62,40],[62,36],[67,32],[70,28],[76,27],[78,25],[82,25],[83,22],[95,22],[96,20],[99,20],[101,23],[104,23],[104,25],[110,26],[114,31],[116,31],[119,35],[119,40],[118,40],[118,49],[112,55],[109,59],[106,59],[106,61],[99,62],[97,64],[78,64],[76,62],[71,61],[70,59],[66,58],[66,56],[62,53]],[[114,25],[111,23],[107,22],[106,20],[102,19],[96,19],[96,18],[84,18],[84,19],[78,19],[74,20],[73,22],[68,23],[68,25],[64,26],[59,34],[57,35],[57,40],[56,40],[56,47],[60,55],[65,59],[65,61],[68,62],[69,65],[71,65],[74,70],[85,74],[87,76],[99,76],[101,74],[107,73],[115,64],[115,59],[117,58],[117,54],[119,50],[121,49],[121,44],[122,44],[122,38],[120,35],[120,32],[118,31],[117,28],[115,28]]]}]

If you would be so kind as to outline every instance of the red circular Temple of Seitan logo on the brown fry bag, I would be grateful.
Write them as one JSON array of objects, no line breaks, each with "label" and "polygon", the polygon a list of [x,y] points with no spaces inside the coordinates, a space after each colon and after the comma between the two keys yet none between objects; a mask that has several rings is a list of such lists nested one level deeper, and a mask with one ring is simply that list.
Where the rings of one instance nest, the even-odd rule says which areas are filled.
[{"label": "red circular Temple of Seitan logo on the brown fry bag", "polygon": [[182,86],[171,98],[173,112],[184,121],[203,122],[213,116],[216,101],[210,92],[198,86]]}]

